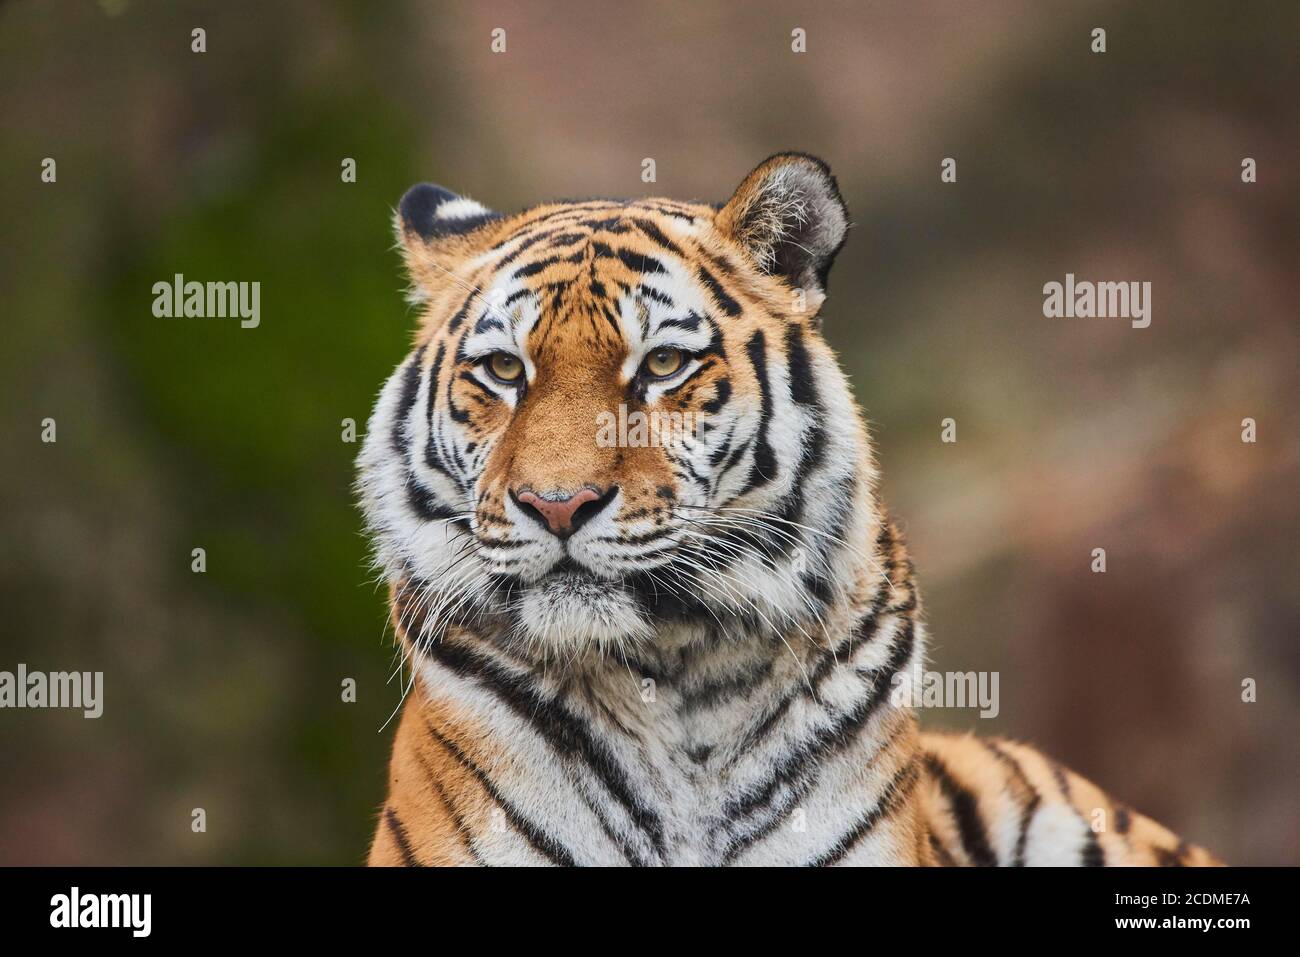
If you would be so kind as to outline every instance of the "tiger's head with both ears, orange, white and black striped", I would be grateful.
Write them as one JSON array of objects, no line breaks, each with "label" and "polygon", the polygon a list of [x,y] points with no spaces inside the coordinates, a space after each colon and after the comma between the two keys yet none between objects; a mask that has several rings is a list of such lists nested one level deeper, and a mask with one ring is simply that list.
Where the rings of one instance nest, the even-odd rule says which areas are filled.
[{"label": "tiger's head with both ears, orange, white and black striped", "polygon": [[819,324],[846,229],[801,153],[720,207],[503,216],[410,190],[422,317],[359,490],[390,585],[433,623],[417,644],[459,624],[543,655],[775,635],[846,594],[874,484]]}]

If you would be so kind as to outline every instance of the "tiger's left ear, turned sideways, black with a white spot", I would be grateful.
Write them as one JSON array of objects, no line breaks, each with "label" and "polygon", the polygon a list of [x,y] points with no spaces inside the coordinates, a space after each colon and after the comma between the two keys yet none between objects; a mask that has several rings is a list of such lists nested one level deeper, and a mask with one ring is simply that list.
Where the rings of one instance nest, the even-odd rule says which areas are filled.
[{"label": "tiger's left ear, turned sideways, black with a white spot", "polygon": [[398,203],[394,228],[416,286],[437,282],[438,267],[474,246],[474,233],[502,216],[433,183],[417,183]]}]

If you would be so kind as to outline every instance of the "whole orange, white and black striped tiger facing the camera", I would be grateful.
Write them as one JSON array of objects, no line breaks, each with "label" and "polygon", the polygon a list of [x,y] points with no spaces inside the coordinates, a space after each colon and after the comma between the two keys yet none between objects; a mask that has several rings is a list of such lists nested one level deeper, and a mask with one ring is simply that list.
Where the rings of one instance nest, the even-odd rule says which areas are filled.
[{"label": "whole orange, white and black striped tiger facing the camera", "polygon": [[[824,163],[722,205],[420,185],[395,226],[420,321],[358,490],[410,680],[372,865],[1217,863],[900,703],[926,629],[820,332]],[[608,441],[629,410],[693,428]]]}]

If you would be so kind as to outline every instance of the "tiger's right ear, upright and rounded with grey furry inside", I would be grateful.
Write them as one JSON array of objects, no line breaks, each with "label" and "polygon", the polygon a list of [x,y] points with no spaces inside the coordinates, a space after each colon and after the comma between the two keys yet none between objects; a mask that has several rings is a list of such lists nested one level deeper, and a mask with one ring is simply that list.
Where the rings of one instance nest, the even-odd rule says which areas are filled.
[{"label": "tiger's right ear, upright and rounded with grey furry inside", "polygon": [[849,230],[849,211],[822,160],[777,153],[745,177],[714,225],[764,273],[824,293]]}]

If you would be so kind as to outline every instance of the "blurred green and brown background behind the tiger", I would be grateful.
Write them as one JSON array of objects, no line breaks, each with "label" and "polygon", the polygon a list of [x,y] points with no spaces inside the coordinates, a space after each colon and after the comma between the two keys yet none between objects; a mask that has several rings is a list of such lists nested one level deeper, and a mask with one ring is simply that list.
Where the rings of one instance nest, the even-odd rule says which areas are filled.
[{"label": "blurred green and brown background behind the tiger", "polygon": [[[0,670],[105,693],[0,711],[0,863],[363,861],[399,688],[341,421],[413,326],[398,196],[718,202],[789,148],[853,211],[826,328],[932,667],[1001,674],[996,719],[923,722],[1300,862],[1297,38],[1294,3],[4,4]],[[1044,319],[1067,272],[1152,282],[1150,328]],[[174,273],[261,282],[260,328],[155,319]]]}]

